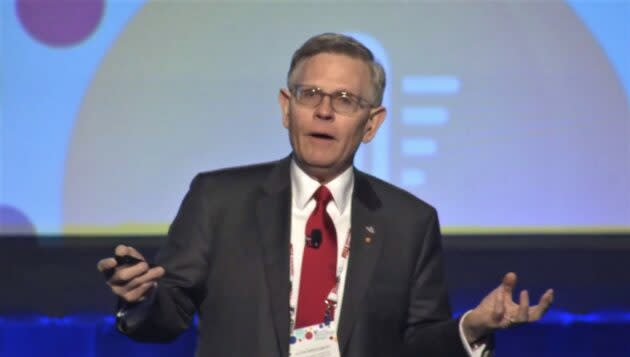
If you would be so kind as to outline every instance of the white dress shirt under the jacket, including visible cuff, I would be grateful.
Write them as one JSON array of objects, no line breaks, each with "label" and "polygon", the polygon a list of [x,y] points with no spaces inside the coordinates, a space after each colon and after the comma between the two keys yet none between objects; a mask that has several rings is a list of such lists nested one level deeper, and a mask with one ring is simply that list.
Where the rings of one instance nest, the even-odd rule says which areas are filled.
[{"label": "white dress shirt under the jacket, including visible cuff", "polygon": [[[291,245],[293,247],[293,286],[291,289],[290,304],[295,307],[297,316],[298,292],[300,291],[300,276],[302,271],[302,255],[304,254],[306,221],[315,209],[315,199],[313,194],[319,188],[320,183],[308,176],[296,163],[291,161]],[[352,166],[346,169],[341,175],[325,185],[332,194],[332,200],[326,206],[326,212],[330,215],[335,230],[337,231],[337,264],[341,262],[341,252],[346,237],[350,232],[350,217],[352,214],[352,193],[354,191],[354,172]],[[350,255],[352,255],[352,246],[350,247]],[[346,265],[347,266],[347,265]],[[341,302],[343,301],[343,293],[346,281],[346,272],[344,269],[339,279],[339,288],[337,291],[338,304],[335,308],[334,321],[339,321],[341,313]],[[474,349],[466,341],[462,329],[462,320],[459,323],[459,334],[464,347],[471,357],[480,357],[484,351],[485,345],[475,346]],[[333,324],[337,328],[337,324]]]}]

